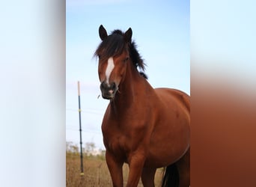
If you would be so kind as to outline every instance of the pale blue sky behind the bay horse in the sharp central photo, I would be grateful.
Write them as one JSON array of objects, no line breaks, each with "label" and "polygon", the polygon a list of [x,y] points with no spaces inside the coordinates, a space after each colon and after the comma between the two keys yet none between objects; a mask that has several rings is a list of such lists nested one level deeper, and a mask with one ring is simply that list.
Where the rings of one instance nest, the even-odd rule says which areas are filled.
[{"label": "pale blue sky behind the bay horse in the sharp central photo", "polygon": [[94,51],[98,28],[132,28],[154,87],[190,94],[189,1],[66,1],[66,139],[79,143],[77,81],[81,84],[82,139],[103,148],[101,120],[109,101],[97,99],[100,82]]}]

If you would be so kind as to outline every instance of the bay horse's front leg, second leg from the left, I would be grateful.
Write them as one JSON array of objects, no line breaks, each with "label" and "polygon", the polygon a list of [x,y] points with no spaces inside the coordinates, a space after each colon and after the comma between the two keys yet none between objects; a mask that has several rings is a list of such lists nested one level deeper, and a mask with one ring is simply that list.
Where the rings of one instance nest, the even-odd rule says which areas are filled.
[{"label": "bay horse's front leg, second leg from the left", "polygon": [[141,177],[144,161],[144,156],[140,156],[139,154],[134,155],[131,157],[131,159],[129,159],[129,177],[127,181],[127,187],[138,186],[138,181]]}]

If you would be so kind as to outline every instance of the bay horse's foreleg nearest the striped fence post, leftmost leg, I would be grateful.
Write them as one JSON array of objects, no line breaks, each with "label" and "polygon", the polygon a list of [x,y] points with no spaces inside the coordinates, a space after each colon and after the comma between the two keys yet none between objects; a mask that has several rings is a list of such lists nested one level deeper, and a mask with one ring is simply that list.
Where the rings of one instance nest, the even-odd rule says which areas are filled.
[{"label": "bay horse's foreleg nearest the striped fence post, leftmost leg", "polygon": [[123,165],[124,162],[119,161],[109,151],[106,150],[106,162],[112,177],[112,183],[115,187],[123,187]]}]

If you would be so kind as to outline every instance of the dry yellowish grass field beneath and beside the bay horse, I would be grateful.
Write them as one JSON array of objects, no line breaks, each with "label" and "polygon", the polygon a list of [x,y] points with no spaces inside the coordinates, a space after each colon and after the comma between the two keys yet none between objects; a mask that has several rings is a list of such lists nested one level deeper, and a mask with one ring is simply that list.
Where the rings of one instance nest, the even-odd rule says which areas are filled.
[{"label": "dry yellowish grass field beneath and beside the bay horse", "polygon": [[[84,175],[81,176],[80,157],[78,154],[67,154],[66,156],[66,186],[88,186],[107,187],[112,186],[106,161],[103,156],[85,156],[83,159]],[[124,165],[124,184],[127,182],[129,168]],[[155,186],[160,186],[162,180],[162,169],[156,171]],[[142,186],[141,181],[138,186]]]}]

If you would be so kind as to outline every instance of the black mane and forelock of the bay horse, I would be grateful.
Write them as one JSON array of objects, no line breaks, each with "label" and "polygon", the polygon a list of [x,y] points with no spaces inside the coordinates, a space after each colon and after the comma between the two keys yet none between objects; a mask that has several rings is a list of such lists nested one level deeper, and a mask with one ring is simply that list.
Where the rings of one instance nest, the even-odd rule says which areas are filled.
[{"label": "black mane and forelock of the bay horse", "polygon": [[124,32],[121,30],[112,31],[112,33],[100,43],[94,56],[98,56],[105,61],[112,56],[121,55],[124,50],[129,51],[129,57],[131,58],[133,65],[144,71],[146,64],[144,64],[141,55],[139,55],[135,42],[132,41],[131,43],[126,43],[124,41]]}]

